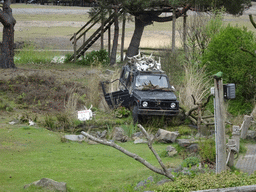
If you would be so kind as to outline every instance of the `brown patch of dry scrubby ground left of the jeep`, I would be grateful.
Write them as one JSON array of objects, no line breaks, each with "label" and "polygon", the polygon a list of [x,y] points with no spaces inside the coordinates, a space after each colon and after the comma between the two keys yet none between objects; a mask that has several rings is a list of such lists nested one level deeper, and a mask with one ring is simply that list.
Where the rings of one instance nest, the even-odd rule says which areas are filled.
[{"label": "brown patch of dry scrubby ground left of the jeep", "polygon": [[[34,73],[29,76],[16,76],[0,80],[0,92],[6,93],[8,100],[14,101],[19,108],[30,108],[33,112],[63,111],[65,103],[72,94],[86,96],[86,87],[75,82],[60,83],[53,76]],[[77,107],[85,102],[77,100]]]}]

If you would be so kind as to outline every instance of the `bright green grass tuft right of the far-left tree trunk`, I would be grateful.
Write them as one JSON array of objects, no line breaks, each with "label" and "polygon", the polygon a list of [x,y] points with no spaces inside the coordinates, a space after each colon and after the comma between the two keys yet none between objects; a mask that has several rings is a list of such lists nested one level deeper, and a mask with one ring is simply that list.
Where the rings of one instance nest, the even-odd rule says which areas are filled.
[{"label": "bright green grass tuft right of the far-left tree trunk", "polygon": [[50,63],[56,53],[47,50],[36,50],[35,45],[26,44],[24,48],[15,54],[15,64],[46,64]]}]

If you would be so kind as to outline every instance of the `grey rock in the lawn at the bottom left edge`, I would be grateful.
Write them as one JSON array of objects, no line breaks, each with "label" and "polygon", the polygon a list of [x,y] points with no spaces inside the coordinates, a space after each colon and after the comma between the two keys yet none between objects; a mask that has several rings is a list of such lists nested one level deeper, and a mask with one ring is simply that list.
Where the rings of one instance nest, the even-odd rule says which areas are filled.
[{"label": "grey rock in the lawn at the bottom left edge", "polygon": [[24,189],[29,188],[31,185],[36,185],[38,187],[42,187],[42,188],[44,188],[46,190],[50,190],[50,191],[62,191],[62,192],[67,191],[66,183],[57,182],[57,181],[54,181],[54,180],[48,179],[48,178],[42,178],[41,180],[38,180],[31,184],[25,185]]}]

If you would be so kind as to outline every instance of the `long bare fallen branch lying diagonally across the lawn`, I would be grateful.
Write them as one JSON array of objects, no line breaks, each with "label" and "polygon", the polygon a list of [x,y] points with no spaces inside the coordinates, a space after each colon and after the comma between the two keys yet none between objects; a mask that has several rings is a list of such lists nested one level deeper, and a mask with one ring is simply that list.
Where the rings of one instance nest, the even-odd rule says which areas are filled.
[{"label": "long bare fallen branch lying diagonally across the lawn", "polygon": [[154,171],[155,173],[158,173],[158,174],[161,174],[161,175],[164,175],[166,177],[168,177],[169,179],[173,180],[173,175],[170,174],[169,172],[166,172],[162,169],[159,169],[153,165],[151,165],[149,162],[147,162],[145,159],[141,158],[140,156],[138,156],[137,154],[135,153],[131,153],[130,151],[127,151],[126,149],[120,147],[119,145],[115,144],[114,142],[109,142],[109,141],[104,141],[104,140],[101,140],[101,139],[98,139],[84,131],[81,132],[82,135],[88,137],[89,139],[97,142],[97,143],[101,143],[103,145],[107,145],[107,146],[110,146],[110,147],[113,147],[119,151],[121,151],[122,153],[124,153],[125,155],[135,159],[136,161],[140,162],[141,164],[143,164],[144,166],[146,166],[147,168],[149,168],[151,171]]}]

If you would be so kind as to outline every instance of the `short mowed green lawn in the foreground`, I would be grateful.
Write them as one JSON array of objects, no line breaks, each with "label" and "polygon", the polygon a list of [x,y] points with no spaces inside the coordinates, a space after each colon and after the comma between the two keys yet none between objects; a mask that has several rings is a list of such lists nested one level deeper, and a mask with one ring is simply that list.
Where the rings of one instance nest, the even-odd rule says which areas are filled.
[{"label": "short mowed green lawn in the foreground", "polygon": [[[120,145],[158,166],[146,144]],[[154,145],[158,152],[166,146]],[[175,166],[181,159],[163,161]],[[69,191],[133,191],[150,175],[156,174],[108,146],[62,143],[60,133],[44,128],[0,127],[0,191],[25,191],[24,185],[42,178],[66,182]]]}]

